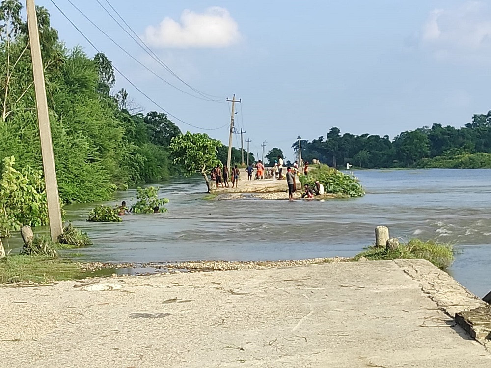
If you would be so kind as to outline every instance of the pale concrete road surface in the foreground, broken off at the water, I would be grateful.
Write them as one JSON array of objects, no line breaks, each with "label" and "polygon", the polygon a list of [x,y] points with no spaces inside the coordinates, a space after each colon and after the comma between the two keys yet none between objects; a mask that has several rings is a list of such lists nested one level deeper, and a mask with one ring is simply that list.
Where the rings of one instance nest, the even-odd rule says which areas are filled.
[{"label": "pale concrete road surface in the foreground, broken off at the water", "polygon": [[2,364],[11,368],[491,363],[453,318],[484,302],[421,260],[0,290]]}]

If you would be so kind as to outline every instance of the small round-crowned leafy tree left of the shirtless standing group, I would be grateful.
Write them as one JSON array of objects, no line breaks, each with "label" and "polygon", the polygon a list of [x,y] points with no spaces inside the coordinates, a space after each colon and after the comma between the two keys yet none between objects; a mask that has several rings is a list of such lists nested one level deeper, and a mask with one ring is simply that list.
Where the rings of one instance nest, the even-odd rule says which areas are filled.
[{"label": "small round-crowned leafy tree left of the shirtless standing group", "polygon": [[181,166],[183,174],[191,176],[200,173],[209,192],[208,171],[220,163],[217,158],[217,149],[220,146],[222,143],[210,138],[208,134],[192,134],[188,131],[172,138],[169,149],[174,163]]}]

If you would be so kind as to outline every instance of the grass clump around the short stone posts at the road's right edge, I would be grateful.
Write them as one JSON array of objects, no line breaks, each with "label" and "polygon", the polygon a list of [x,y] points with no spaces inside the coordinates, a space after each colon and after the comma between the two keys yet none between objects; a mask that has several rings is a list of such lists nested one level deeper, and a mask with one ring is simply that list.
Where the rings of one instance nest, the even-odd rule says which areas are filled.
[{"label": "grass clump around the short stone posts at the road's right edge", "polygon": [[365,257],[372,261],[389,259],[426,259],[439,269],[448,268],[455,259],[453,245],[438,243],[434,240],[422,241],[411,239],[406,244],[401,244],[397,249],[385,249],[376,246],[369,246],[366,250],[357,254],[353,259],[359,260]]}]

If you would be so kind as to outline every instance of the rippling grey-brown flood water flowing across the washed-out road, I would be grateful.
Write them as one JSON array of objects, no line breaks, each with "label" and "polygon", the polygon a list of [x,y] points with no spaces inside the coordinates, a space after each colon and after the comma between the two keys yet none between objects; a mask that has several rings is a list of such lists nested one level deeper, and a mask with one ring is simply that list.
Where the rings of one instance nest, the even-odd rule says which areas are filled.
[{"label": "rippling grey-brown flood water flowing across the washed-out road", "polygon": [[[206,201],[202,178],[159,184],[168,212],[127,215],[122,223],[89,223],[95,204],[66,206],[67,219],[95,245],[82,260],[166,262],[278,260],[353,256],[374,242],[374,228],[391,236],[456,244],[449,272],[479,296],[491,290],[491,170],[355,171],[367,195],[350,200]],[[285,184],[286,185],[286,184]],[[136,191],[109,202],[135,201]],[[286,197],[286,194],[285,194]],[[15,244],[15,241],[13,242]]]}]

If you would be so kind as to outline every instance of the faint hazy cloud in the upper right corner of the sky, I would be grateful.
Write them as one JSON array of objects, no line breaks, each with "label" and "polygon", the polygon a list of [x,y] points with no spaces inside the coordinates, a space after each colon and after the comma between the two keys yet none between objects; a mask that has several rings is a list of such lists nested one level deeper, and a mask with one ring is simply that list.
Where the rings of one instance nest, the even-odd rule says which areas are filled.
[{"label": "faint hazy cloud in the upper right corner of the sky", "polygon": [[423,25],[425,46],[450,54],[491,48],[491,9],[482,1],[466,1],[458,7],[435,9]]}]

